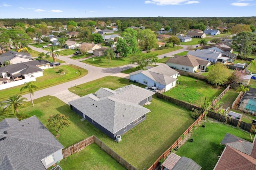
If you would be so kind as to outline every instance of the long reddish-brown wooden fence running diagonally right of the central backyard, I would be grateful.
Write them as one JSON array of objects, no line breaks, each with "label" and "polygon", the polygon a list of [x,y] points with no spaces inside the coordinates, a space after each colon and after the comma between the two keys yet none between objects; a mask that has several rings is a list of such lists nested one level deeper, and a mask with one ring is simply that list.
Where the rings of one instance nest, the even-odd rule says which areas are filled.
[{"label": "long reddish-brown wooden fence running diagonally right of the central backyard", "polygon": [[[190,125],[190,127],[188,127],[188,129],[187,129],[182,135],[188,135],[188,133],[191,131],[191,129],[193,129],[193,127],[194,127],[195,125],[197,125],[198,122],[199,122],[200,120],[202,120],[203,117],[204,117],[204,113],[201,114],[201,115],[198,117],[198,119],[196,119],[196,121],[194,121],[194,123],[192,123],[192,125]],[[172,146],[171,146],[170,148],[168,148],[168,149],[156,160],[156,162],[154,162],[154,164],[152,164],[152,165],[148,168],[148,170],[154,170],[154,169],[158,166],[160,159],[166,158],[166,157],[172,152],[172,149],[174,149],[175,147],[178,147],[178,146],[180,145],[181,141],[182,141],[182,137],[179,137],[179,138],[177,139],[177,141],[175,141],[175,142],[172,144]]]}]

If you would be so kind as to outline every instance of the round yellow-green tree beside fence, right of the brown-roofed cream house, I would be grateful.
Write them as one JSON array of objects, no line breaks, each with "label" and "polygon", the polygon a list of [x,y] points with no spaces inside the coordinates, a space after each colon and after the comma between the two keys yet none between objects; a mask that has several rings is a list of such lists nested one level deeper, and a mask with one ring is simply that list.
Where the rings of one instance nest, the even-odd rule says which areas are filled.
[{"label": "round yellow-green tree beside fence, right of the brown-roofed cream house", "polygon": [[227,82],[228,77],[230,76],[230,71],[225,64],[216,63],[210,69],[206,79],[208,82],[215,84],[215,88],[217,85],[222,85]]}]

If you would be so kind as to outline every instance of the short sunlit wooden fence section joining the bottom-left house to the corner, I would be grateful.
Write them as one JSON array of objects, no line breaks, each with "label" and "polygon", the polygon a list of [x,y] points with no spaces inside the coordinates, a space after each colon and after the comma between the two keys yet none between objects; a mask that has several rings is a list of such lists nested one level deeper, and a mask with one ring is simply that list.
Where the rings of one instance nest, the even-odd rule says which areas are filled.
[{"label": "short sunlit wooden fence section joining the bottom-left house to the corner", "polygon": [[76,152],[79,152],[80,150],[91,145],[92,143],[94,143],[94,135],[76,143],[75,145],[72,145],[72,146],[62,150],[63,158],[66,158]]}]

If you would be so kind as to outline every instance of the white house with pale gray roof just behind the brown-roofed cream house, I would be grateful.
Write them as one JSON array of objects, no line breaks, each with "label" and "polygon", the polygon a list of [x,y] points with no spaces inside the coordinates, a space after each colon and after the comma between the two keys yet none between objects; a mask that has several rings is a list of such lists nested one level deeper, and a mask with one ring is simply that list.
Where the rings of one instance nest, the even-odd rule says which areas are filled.
[{"label": "white house with pale gray roof just behind the brown-roofed cream house", "polygon": [[193,55],[201,59],[210,61],[212,63],[217,63],[217,62],[226,63],[228,62],[228,59],[229,59],[228,57],[222,57],[222,53],[219,53],[216,51],[200,50],[200,49],[197,49],[196,51],[188,51],[187,55]]}]

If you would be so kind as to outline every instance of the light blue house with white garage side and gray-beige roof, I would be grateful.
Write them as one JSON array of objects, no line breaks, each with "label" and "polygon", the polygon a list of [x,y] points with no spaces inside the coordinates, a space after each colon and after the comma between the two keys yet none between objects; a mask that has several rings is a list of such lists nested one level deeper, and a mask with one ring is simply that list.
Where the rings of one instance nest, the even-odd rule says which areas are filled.
[{"label": "light blue house with white garage side and gray-beige roof", "polygon": [[130,73],[130,80],[146,86],[154,86],[164,92],[176,86],[178,73],[166,64]]}]

